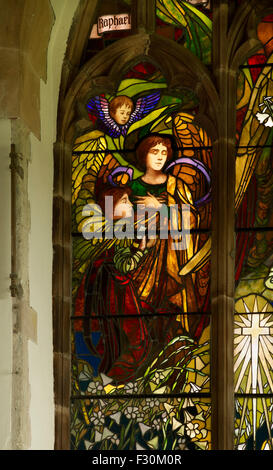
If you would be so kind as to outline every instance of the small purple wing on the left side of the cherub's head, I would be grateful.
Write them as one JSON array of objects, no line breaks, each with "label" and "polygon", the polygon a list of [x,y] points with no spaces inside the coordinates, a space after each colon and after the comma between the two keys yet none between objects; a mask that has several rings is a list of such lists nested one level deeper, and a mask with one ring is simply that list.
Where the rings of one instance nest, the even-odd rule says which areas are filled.
[{"label": "small purple wing on the left side of the cherub's head", "polygon": [[95,96],[88,104],[87,109],[90,114],[94,114],[99,120],[99,127],[103,132],[111,137],[120,136],[120,128],[109,114],[109,103],[102,96]]}]

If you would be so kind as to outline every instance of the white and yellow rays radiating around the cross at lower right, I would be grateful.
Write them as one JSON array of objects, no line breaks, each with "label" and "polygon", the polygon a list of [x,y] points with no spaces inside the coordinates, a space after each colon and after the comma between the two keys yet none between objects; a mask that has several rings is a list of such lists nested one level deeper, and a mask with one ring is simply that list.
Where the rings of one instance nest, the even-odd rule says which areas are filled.
[{"label": "white and yellow rays radiating around the cross at lower right", "polygon": [[[273,307],[262,296],[251,294],[236,302],[235,310],[240,312],[235,315],[234,322],[235,393],[273,393]],[[248,415],[250,400],[251,413]],[[262,422],[266,423],[270,436],[271,424],[266,400],[258,400],[258,397],[242,398],[236,448],[242,434],[251,425],[255,449],[257,429]],[[247,434],[250,435],[249,431]],[[273,449],[272,439],[267,444]]]}]

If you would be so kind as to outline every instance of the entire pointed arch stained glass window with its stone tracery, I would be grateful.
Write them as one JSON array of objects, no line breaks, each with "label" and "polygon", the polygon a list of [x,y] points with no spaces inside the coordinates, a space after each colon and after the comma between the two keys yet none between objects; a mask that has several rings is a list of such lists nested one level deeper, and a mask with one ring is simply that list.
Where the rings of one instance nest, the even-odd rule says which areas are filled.
[{"label": "entire pointed arch stained glass window with its stone tracery", "polygon": [[[60,105],[56,446],[271,448],[272,17],[103,3],[93,24],[112,12],[132,28],[92,27]],[[263,49],[244,62],[251,21]]]}]

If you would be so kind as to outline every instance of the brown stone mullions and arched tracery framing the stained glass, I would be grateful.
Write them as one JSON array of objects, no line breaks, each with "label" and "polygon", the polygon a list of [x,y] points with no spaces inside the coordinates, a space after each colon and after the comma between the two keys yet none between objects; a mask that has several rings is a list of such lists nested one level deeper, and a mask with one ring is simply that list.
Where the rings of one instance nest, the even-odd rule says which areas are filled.
[{"label": "brown stone mullions and arched tracery framing the stained glass", "polygon": [[[121,39],[98,53],[80,69],[86,38],[96,16],[98,0],[80,3],[68,41],[63,64],[54,145],[53,194],[53,348],[55,392],[55,449],[70,448],[70,316],[71,316],[71,155],[77,135],[88,122],[77,117],[80,103],[92,90],[100,93],[118,82],[122,68],[138,57],[151,56],[156,41],[164,51],[180,60],[181,67],[195,73],[211,100],[210,114],[200,119],[213,140],[213,225],[212,225],[212,448],[232,450],[234,446],[233,391],[233,319],[235,269],[235,124],[236,88],[239,65],[260,46],[253,31],[259,19],[268,12],[269,1],[254,10],[254,1],[243,2],[234,13],[235,2],[213,2],[213,60],[211,70],[182,46],[155,39],[155,0],[134,0],[135,23],[132,36]],[[272,12],[272,8],[271,8]],[[244,39],[244,34],[248,37]],[[228,47],[226,45],[228,44]],[[182,51],[184,49],[184,51]],[[105,74],[106,64],[113,63],[113,52],[119,59]],[[155,60],[153,51],[151,60]],[[183,66],[182,66],[183,65]],[[171,74],[167,80],[172,80]],[[199,85],[198,85],[199,86]],[[213,111],[212,111],[213,110]]]}]

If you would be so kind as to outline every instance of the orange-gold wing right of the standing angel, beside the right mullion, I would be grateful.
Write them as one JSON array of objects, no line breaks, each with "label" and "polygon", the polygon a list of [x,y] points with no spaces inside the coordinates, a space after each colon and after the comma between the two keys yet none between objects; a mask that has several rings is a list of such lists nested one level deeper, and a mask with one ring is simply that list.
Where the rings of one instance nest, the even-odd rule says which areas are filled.
[{"label": "orange-gold wing right of the standing angel, beside the right mullion", "polygon": [[[198,228],[211,228],[210,172],[212,167],[211,139],[207,133],[194,124],[194,116],[178,113],[173,121],[173,131],[178,156],[183,163],[175,165],[173,175],[183,180],[191,192],[198,214]],[[179,161],[179,160],[178,160]],[[210,269],[211,238],[208,233],[199,233],[194,255],[180,271],[180,276],[195,273],[195,285],[198,291],[200,307],[206,298]]]}]

